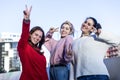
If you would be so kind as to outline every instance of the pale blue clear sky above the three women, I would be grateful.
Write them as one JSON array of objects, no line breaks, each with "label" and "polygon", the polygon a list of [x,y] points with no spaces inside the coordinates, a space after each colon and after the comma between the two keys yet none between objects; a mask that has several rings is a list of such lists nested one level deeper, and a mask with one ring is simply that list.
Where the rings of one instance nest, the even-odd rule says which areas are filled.
[{"label": "pale blue clear sky above the three women", "polygon": [[120,0],[1,0],[0,32],[21,33],[25,5],[32,5],[31,28],[47,32],[68,20],[81,32],[82,22],[92,16],[103,30],[120,35]]}]

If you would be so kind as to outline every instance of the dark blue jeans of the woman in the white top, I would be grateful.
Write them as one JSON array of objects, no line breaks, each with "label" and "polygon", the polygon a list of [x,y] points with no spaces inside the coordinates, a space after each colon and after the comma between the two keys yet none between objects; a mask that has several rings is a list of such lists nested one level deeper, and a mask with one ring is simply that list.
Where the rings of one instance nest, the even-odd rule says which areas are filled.
[{"label": "dark blue jeans of the woman in the white top", "polygon": [[110,80],[107,75],[87,75],[78,77],[77,80]]}]

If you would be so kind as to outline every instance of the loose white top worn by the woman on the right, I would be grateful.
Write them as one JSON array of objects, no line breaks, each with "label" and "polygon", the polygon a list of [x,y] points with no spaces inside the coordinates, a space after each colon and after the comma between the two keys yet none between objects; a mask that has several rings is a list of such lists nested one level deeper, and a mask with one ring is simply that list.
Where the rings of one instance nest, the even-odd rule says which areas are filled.
[{"label": "loose white top worn by the woman on the right", "polygon": [[[101,39],[107,40],[107,36]],[[110,40],[109,40],[110,42]],[[113,42],[113,41],[112,41]],[[110,45],[95,41],[91,36],[81,37],[73,42],[75,59],[75,77],[83,75],[108,75],[107,68],[103,62],[106,51]]]}]

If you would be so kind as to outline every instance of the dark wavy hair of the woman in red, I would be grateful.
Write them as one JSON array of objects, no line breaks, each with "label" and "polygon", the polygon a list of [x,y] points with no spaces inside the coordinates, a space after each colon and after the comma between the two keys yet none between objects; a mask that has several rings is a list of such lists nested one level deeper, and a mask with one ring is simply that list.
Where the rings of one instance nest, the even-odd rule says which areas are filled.
[{"label": "dark wavy hair of the woman in red", "polygon": [[43,33],[41,40],[40,40],[39,43],[36,44],[36,45],[34,45],[34,44],[31,42],[30,39],[29,39],[29,42],[32,44],[32,46],[36,46],[36,47],[38,47],[39,49],[41,49],[41,46],[42,46],[42,45],[44,44],[44,42],[45,42],[45,33],[44,33],[44,31],[43,31],[43,29],[42,29],[41,27],[35,26],[35,27],[33,27],[33,28],[30,30],[30,34],[34,33],[36,30],[40,30],[40,31]]}]

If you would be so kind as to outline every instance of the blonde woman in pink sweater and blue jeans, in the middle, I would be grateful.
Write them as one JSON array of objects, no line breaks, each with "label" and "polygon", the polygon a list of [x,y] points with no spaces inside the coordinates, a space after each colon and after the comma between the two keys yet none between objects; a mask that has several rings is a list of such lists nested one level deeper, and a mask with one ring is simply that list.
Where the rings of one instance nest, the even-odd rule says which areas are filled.
[{"label": "blonde woman in pink sweater and blue jeans, in the middle", "polygon": [[45,46],[50,51],[50,80],[68,80],[68,63],[72,60],[71,44],[74,34],[72,23],[65,21],[60,28],[61,39],[56,41],[52,38],[57,28],[50,28],[46,35]]}]

